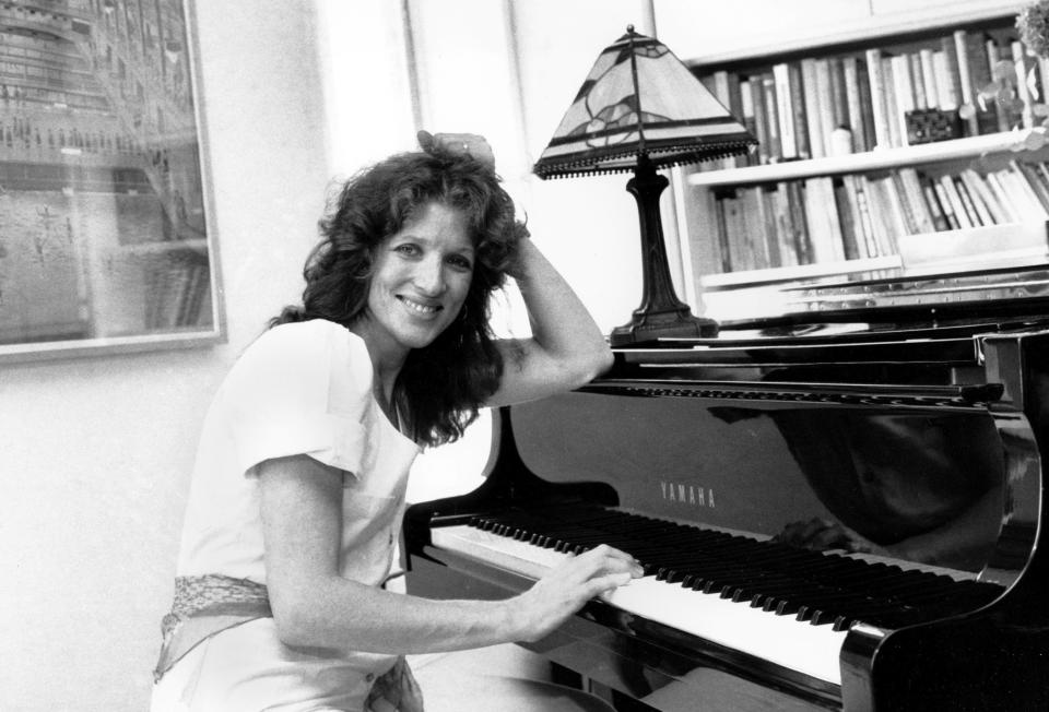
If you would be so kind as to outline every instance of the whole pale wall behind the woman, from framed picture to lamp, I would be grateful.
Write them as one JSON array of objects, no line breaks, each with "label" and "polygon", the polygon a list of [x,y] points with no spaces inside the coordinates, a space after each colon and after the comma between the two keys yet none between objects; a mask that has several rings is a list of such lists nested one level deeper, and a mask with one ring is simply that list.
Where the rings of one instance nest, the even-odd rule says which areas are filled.
[{"label": "whole pale wall behind the woman, from framed picture to lamp", "polygon": [[[411,0],[411,34],[392,0],[197,5],[228,343],[0,367],[3,712],[146,709],[210,395],[297,299],[330,179],[412,147],[413,114],[492,139],[535,241],[602,329],[639,301],[627,177],[544,183],[529,170],[600,50],[628,23],[645,32],[647,1]],[[415,105],[409,45],[425,88]],[[503,331],[527,329],[512,296],[500,315]],[[438,483],[475,473],[486,444],[482,422],[428,454],[414,498],[471,486],[475,475]]]}]

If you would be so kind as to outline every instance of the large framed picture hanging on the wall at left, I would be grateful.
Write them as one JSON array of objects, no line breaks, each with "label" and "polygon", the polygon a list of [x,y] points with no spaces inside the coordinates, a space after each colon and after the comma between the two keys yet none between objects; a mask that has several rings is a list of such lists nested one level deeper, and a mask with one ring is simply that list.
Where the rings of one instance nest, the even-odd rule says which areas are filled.
[{"label": "large framed picture hanging on the wall at left", "polygon": [[223,339],[188,3],[0,3],[0,360]]}]

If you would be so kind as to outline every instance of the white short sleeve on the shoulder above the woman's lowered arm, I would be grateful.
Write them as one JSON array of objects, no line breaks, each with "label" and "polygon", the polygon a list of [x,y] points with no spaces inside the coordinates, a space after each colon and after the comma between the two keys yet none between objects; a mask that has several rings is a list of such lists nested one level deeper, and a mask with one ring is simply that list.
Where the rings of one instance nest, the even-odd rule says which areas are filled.
[{"label": "white short sleeve on the shoulder above the woman's lowered arm", "polygon": [[266,332],[221,389],[238,471],[306,454],[362,472],[373,456],[372,378],[364,342],[339,324],[313,320]]}]

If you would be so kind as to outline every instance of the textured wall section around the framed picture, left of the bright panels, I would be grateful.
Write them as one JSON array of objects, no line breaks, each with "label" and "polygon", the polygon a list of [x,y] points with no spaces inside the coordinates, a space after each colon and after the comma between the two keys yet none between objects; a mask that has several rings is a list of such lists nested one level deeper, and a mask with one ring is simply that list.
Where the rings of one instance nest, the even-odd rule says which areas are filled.
[{"label": "textured wall section around the framed picture, left of the bright panels", "polygon": [[148,707],[219,379],[297,297],[330,167],[310,0],[200,1],[229,325],[212,348],[0,367],[0,710]]}]

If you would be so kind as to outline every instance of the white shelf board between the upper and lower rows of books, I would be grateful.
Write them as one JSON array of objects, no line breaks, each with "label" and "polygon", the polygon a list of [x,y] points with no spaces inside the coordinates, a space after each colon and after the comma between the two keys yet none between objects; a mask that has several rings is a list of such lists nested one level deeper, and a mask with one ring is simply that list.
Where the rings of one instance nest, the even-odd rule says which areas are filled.
[{"label": "white shelf board between the upper and lower rows of books", "polygon": [[1046,145],[1046,130],[1022,129],[988,135],[969,137],[952,141],[936,141],[916,146],[883,149],[868,153],[852,153],[844,156],[812,158],[810,161],[787,161],[765,166],[745,166],[724,170],[708,170],[689,174],[689,186],[708,188],[718,186],[741,186],[761,182],[798,180],[815,176],[835,176],[844,174],[885,170],[900,166],[928,165],[960,158],[974,158],[986,153],[1019,153],[1037,151]]}]

